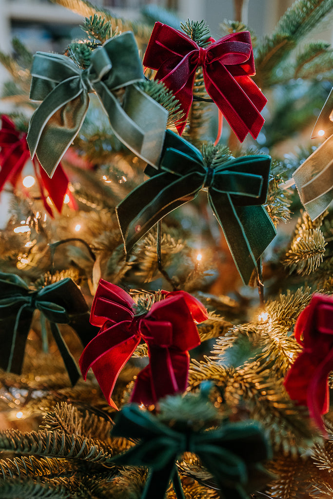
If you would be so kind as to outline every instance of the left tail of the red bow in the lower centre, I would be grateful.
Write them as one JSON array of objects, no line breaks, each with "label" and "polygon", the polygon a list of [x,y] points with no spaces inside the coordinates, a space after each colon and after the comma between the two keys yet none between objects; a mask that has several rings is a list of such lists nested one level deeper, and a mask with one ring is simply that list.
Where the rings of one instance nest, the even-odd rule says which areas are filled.
[{"label": "left tail of the red bow in the lower centre", "polygon": [[111,400],[112,391],[117,377],[140,342],[140,336],[133,336],[126,330],[129,321],[119,322],[101,331],[93,338],[82,352],[79,366],[86,379],[89,368],[108,403],[117,409]]}]

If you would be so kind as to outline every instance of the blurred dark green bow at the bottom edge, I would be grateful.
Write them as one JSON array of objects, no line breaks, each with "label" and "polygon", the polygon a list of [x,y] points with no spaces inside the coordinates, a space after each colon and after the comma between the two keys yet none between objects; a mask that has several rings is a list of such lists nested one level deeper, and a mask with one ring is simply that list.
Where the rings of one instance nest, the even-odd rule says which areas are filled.
[{"label": "blurred dark green bow at the bottom edge", "polygon": [[184,498],[176,460],[184,453],[196,454],[213,475],[224,499],[244,499],[246,484],[260,461],[269,458],[269,447],[256,422],[233,423],[216,430],[187,433],[172,430],[136,405],[125,406],[115,416],[115,437],[140,442],[112,461],[119,465],[150,468],[141,499],[162,499],[170,480],[178,499]]}]

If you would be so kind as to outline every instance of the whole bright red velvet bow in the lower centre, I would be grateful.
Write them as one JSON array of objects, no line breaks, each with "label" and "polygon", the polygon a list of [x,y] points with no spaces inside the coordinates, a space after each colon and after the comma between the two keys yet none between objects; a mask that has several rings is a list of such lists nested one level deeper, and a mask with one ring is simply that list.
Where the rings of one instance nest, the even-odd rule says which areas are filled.
[{"label": "whole bright red velvet bow in the lower centre", "polygon": [[79,360],[83,378],[91,367],[108,403],[122,367],[140,340],[148,345],[149,364],[137,375],[131,401],[155,404],[187,386],[188,350],[200,344],[195,322],[207,319],[200,301],[184,291],[167,293],[149,312],[136,316],[134,300],[120,287],[99,281],[90,322],[101,327]]}]

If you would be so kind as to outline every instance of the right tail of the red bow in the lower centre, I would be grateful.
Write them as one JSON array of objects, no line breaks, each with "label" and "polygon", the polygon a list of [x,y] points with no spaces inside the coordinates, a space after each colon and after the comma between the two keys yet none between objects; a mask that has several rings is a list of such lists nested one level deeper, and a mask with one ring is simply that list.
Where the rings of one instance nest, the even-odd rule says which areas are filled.
[{"label": "right tail of the red bow in the lower centre", "polygon": [[150,364],[137,375],[131,402],[149,406],[187,387],[189,353],[149,346]]}]

